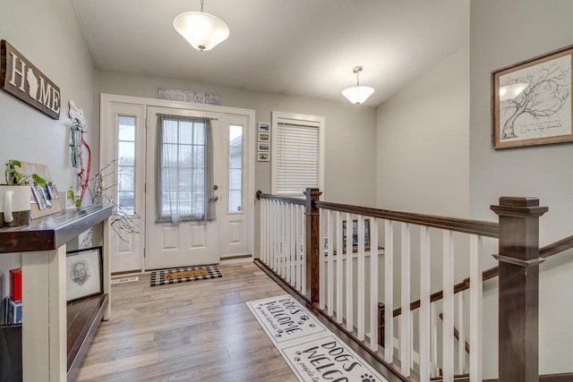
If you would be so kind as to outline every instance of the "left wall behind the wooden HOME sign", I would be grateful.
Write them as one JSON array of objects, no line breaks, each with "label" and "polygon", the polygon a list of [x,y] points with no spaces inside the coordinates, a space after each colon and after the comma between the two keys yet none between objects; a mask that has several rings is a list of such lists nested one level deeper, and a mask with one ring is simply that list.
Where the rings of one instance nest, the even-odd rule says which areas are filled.
[{"label": "left wall behind the wooden HOME sign", "polygon": [[[7,4],[10,3],[10,4]],[[26,56],[60,87],[60,120],[43,115],[20,99],[0,90],[0,164],[20,159],[48,166],[60,191],[77,185],[70,165],[68,101],[83,108],[93,168],[98,168],[98,126],[95,110],[95,69],[81,34],[71,0],[26,0],[4,2],[0,13],[0,37]],[[4,183],[4,174],[0,178]],[[20,265],[19,256],[0,254],[0,292],[8,293],[11,267]]]}]

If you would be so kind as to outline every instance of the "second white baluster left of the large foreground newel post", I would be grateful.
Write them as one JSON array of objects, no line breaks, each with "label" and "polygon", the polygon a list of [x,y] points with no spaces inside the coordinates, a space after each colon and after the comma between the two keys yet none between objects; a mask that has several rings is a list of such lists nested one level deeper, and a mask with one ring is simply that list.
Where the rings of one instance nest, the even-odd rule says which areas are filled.
[{"label": "second white baluster left of the large foreground newel post", "polygon": [[443,231],[442,371],[443,381],[454,380],[454,235]]}]

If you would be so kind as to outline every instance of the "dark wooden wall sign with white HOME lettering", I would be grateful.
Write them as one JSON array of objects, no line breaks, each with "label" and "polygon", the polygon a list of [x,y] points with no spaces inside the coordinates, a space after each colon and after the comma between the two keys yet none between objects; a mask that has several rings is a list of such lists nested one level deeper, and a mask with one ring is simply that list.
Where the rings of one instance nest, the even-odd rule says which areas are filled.
[{"label": "dark wooden wall sign with white HOME lettering", "polygon": [[60,88],[6,40],[0,41],[0,87],[54,119],[60,119]]}]

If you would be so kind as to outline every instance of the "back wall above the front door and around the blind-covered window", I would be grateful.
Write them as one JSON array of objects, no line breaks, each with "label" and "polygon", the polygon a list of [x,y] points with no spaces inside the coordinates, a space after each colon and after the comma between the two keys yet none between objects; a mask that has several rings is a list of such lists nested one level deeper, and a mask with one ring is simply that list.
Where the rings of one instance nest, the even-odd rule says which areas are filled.
[{"label": "back wall above the front door and around the blind-covered window", "polygon": [[[325,116],[325,189],[329,201],[355,202],[366,206],[374,203],[376,183],[372,158],[376,152],[376,114],[373,107],[351,105],[342,99],[332,102],[201,82],[98,71],[98,93],[158,98],[159,87],[219,94],[222,106],[254,109],[257,122],[270,123],[272,111]],[[270,191],[268,162],[256,162],[255,188]]]}]

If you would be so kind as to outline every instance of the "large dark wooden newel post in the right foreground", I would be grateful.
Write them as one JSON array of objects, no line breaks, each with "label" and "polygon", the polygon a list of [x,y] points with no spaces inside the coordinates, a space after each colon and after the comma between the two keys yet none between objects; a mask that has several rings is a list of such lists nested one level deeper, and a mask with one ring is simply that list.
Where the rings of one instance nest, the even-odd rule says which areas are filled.
[{"label": "large dark wooden newel post in the right foreground", "polygon": [[500,198],[500,382],[539,381],[539,216],[536,198]]}]

